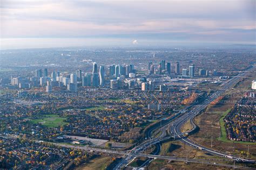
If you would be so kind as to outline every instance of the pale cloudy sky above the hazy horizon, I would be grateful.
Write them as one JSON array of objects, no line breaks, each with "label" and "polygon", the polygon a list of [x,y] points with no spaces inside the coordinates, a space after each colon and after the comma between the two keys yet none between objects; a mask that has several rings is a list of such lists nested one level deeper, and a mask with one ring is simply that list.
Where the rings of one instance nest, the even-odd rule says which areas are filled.
[{"label": "pale cloudy sky above the hazy horizon", "polygon": [[1,49],[256,40],[254,0],[0,2]]}]

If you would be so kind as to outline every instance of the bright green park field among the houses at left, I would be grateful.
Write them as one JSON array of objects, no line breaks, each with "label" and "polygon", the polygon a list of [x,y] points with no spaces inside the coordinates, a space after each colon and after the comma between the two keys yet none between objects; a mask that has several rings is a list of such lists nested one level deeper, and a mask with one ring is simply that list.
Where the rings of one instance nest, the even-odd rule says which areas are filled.
[{"label": "bright green park field among the houses at left", "polygon": [[68,124],[64,122],[65,119],[65,117],[59,117],[58,115],[42,115],[40,118],[33,119],[30,122],[33,124],[42,124],[43,126],[47,126],[48,128],[55,128]]}]

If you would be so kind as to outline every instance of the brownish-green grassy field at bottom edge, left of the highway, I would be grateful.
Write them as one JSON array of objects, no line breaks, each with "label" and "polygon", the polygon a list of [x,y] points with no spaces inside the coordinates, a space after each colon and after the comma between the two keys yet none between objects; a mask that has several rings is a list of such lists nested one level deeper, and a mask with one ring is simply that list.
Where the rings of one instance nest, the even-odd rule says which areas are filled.
[{"label": "brownish-green grassy field at bottom edge, left of the highway", "polygon": [[94,169],[106,169],[107,166],[110,165],[110,163],[112,162],[110,157],[97,157],[95,159],[90,160],[89,163],[86,163],[84,165],[81,165],[77,168],[75,168],[75,170],[94,170]]}]

